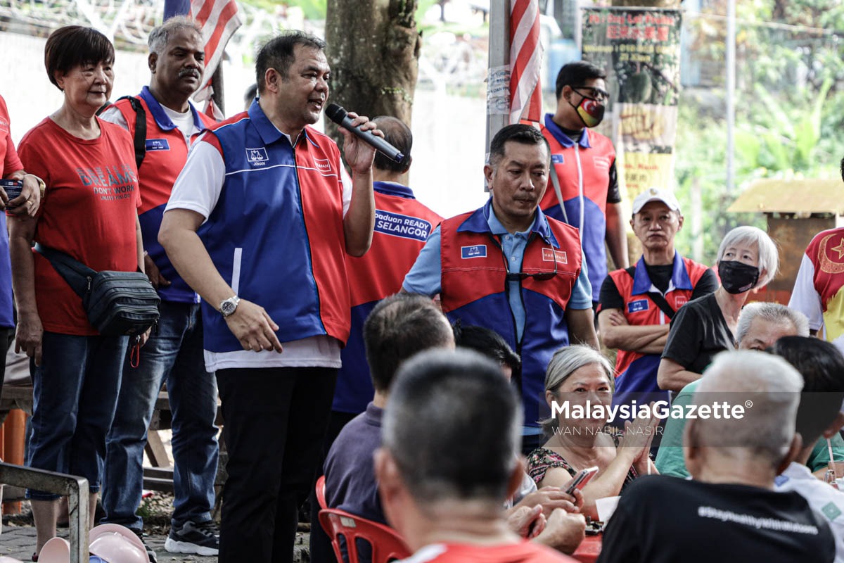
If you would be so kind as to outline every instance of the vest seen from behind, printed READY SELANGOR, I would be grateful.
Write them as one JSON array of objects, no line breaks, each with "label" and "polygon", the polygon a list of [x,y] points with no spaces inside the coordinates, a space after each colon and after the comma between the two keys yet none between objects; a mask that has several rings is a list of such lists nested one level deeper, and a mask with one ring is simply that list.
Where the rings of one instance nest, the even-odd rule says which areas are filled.
[{"label": "vest seen from behind, printed READY SELANGOR", "polygon": [[428,235],[442,218],[414,198],[409,187],[376,181],[375,232],[362,257],[346,257],[352,303],[352,329],[341,353],[343,367],[334,390],[333,410],[362,413],[375,390],[366,363],[363,328],[378,301],[402,289]]}]

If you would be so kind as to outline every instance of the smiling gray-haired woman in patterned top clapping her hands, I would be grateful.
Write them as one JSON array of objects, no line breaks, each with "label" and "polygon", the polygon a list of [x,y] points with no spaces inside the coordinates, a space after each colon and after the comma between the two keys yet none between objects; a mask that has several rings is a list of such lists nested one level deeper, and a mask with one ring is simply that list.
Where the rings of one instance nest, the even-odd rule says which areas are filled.
[{"label": "smiling gray-haired woman in patterned top clapping her hands", "polygon": [[[527,473],[539,487],[565,487],[578,471],[598,467],[582,489],[581,512],[592,518],[597,517],[596,499],[618,495],[640,474],[657,473],[648,457],[656,418],[628,422],[622,432],[609,427],[606,418],[592,416],[596,406],[609,409],[613,392],[613,367],[597,350],[557,350],[545,372],[545,401],[552,416],[541,424],[549,440],[527,457]],[[581,416],[582,410],[587,415]]]}]

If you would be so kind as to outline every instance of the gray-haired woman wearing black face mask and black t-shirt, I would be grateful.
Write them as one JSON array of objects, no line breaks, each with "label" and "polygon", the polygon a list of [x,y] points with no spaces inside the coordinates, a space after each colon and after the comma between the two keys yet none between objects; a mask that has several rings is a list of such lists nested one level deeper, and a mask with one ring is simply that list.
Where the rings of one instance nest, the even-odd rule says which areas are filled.
[{"label": "gray-haired woman wearing black face mask and black t-shirt", "polygon": [[765,287],[779,268],[776,244],[764,230],[736,227],[718,247],[717,268],[715,293],[686,303],[671,320],[657,371],[662,389],[679,392],[700,379],[718,352],[735,348],[738,313],[751,290]]}]

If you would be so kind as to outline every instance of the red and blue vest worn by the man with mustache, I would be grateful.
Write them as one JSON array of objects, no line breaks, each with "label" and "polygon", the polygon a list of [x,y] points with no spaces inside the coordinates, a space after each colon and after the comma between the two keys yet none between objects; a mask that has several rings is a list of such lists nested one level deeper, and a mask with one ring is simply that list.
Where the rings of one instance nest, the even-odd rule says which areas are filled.
[{"label": "red and blue vest worn by the man with mustache", "polygon": [[[149,252],[159,268],[161,275],[170,281],[170,285],[160,287],[158,292],[165,301],[198,303],[199,296],[173,268],[164,247],[158,242],[161,217],[173,191],[173,184],[187,160],[185,136],[167,116],[164,109],[155,100],[147,86],[135,96],[141,102],[147,122],[146,154],[138,169],[138,184],[141,190],[141,207],[138,208],[138,220],[141,224],[143,250]],[[129,100],[117,100],[114,106],[123,114],[129,127],[129,134],[135,137],[137,114]],[[202,131],[214,125],[214,120],[200,113],[191,105],[193,123]]]}]

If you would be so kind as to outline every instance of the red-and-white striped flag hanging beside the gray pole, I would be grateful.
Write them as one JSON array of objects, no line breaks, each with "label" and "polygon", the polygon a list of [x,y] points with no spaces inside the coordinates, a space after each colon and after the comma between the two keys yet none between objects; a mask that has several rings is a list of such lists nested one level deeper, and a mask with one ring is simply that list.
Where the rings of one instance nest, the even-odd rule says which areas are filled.
[{"label": "red-and-white striped flag hanging beside the gray pole", "polygon": [[538,0],[510,0],[510,122],[542,119]]}]

